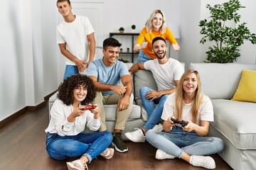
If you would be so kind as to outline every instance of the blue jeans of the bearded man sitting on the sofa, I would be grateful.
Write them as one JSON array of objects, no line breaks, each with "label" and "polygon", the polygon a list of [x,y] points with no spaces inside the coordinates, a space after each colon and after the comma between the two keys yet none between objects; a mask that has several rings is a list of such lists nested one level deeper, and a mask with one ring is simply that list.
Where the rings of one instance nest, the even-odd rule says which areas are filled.
[{"label": "blue jeans of the bearded man sitting on the sofa", "polygon": [[[154,128],[154,125],[159,123],[159,121],[161,120],[161,114],[164,110],[164,102],[169,96],[164,95],[159,98],[155,98],[154,101],[150,101],[150,99],[146,99],[146,94],[149,93],[149,91],[154,90],[150,89],[149,87],[142,87],[141,89],[139,89],[140,96],[142,97],[142,106],[144,107],[148,115],[148,120],[143,127],[146,130]],[[157,104],[157,106],[155,106],[155,104]]]}]

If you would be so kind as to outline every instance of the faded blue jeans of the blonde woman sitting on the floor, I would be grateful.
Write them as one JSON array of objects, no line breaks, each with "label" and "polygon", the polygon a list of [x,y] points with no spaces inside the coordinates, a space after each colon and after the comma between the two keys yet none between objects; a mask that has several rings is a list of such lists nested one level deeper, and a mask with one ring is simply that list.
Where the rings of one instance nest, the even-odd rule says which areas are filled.
[{"label": "faded blue jeans of the blonde woman sitting on the floor", "polygon": [[183,152],[189,155],[209,155],[223,150],[224,143],[218,137],[202,137],[196,132],[183,131],[174,126],[170,132],[146,132],[146,140],[154,147],[174,157],[181,157]]}]

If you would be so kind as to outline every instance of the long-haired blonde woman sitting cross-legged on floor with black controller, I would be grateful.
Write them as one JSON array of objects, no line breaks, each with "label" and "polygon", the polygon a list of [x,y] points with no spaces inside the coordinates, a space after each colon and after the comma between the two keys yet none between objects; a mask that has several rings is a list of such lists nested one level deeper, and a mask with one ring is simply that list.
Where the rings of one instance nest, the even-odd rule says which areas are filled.
[{"label": "long-haired blonde woman sitting cross-legged on floor with black controller", "polygon": [[198,72],[188,70],[182,75],[176,93],[164,103],[161,118],[164,132],[146,132],[146,140],[158,148],[156,159],[178,157],[193,166],[215,169],[214,159],[204,155],[220,152],[224,144],[218,137],[206,137],[213,121],[213,105],[208,96],[201,94]]}]

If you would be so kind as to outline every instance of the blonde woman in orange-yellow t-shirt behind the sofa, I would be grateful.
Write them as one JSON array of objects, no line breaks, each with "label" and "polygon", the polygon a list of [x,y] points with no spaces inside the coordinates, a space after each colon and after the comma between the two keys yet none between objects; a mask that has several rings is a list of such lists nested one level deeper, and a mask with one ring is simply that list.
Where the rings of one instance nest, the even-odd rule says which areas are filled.
[{"label": "blonde woman in orange-yellow t-shirt behind the sofa", "polygon": [[146,62],[147,60],[156,59],[156,55],[152,51],[152,40],[156,37],[168,40],[174,47],[174,50],[180,49],[171,30],[166,27],[166,18],[163,11],[156,9],[146,21],[146,26],[139,33],[137,44],[134,45],[134,52],[139,52],[137,62]]}]

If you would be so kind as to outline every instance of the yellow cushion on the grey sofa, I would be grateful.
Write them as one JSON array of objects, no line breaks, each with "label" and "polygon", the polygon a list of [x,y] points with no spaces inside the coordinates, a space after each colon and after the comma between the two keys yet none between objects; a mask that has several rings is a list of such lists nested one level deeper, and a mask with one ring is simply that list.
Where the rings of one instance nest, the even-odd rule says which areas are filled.
[{"label": "yellow cushion on the grey sofa", "polygon": [[256,102],[256,71],[243,69],[238,89],[235,91],[233,101]]}]

